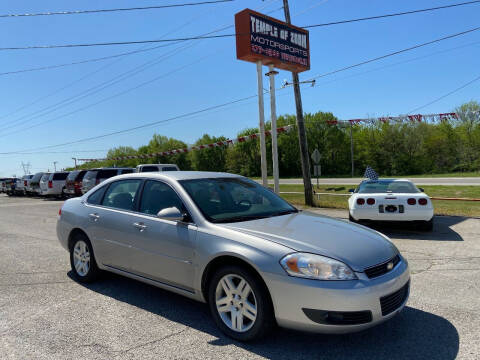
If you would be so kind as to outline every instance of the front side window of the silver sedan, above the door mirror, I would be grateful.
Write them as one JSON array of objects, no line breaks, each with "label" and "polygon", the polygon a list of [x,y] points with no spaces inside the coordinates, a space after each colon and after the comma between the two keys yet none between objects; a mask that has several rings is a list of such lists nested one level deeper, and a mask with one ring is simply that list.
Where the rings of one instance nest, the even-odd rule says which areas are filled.
[{"label": "front side window of the silver sedan, above the door mirror", "polygon": [[143,188],[140,212],[157,215],[160,210],[175,206],[180,211],[184,206],[177,193],[167,184],[148,180]]}]

